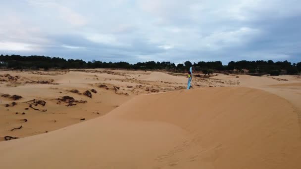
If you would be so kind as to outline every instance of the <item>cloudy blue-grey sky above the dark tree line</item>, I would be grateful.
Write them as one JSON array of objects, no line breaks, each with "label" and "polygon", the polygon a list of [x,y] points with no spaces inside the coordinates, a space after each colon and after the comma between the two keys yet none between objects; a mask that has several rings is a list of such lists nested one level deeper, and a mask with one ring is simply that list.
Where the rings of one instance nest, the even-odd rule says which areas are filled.
[{"label": "cloudy blue-grey sky above the dark tree line", "polygon": [[301,61],[300,0],[0,0],[0,54]]}]

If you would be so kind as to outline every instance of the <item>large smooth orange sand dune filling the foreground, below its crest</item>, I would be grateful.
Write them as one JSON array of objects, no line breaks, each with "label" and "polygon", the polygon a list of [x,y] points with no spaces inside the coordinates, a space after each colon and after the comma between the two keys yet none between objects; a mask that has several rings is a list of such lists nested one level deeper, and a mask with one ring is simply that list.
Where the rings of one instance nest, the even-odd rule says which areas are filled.
[{"label": "large smooth orange sand dune filling the foreground, below its crest", "polygon": [[298,169],[300,134],[277,95],[204,87],[139,95],[105,116],[0,142],[0,168]]}]

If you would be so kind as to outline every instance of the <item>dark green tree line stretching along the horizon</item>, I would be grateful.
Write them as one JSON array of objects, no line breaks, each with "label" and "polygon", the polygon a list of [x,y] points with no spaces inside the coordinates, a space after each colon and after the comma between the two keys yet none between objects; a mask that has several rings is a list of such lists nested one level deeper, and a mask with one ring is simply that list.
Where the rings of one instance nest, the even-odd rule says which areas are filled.
[{"label": "dark green tree line stretching along the horizon", "polygon": [[[200,61],[198,63],[192,63],[190,61],[179,63],[175,65],[172,62],[138,62],[130,64],[127,62],[102,62],[93,60],[92,62],[85,62],[79,59],[64,59],[60,57],[49,56],[20,56],[20,55],[0,55],[1,67],[8,69],[44,69],[50,68],[58,69],[84,69],[84,68],[111,68],[111,69],[134,69],[134,70],[168,70],[174,72],[187,72],[191,66],[194,67],[194,71],[203,72],[204,74],[212,74],[213,72],[229,73],[236,70],[236,72],[245,73],[248,70],[249,74],[289,74],[296,75],[301,72],[301,62],[291,63],[288,61],[272,60],[263,61],[230,61],[228,65],[222,65],[221,61]],[[247,72],[246,72],[247,73]]]}]

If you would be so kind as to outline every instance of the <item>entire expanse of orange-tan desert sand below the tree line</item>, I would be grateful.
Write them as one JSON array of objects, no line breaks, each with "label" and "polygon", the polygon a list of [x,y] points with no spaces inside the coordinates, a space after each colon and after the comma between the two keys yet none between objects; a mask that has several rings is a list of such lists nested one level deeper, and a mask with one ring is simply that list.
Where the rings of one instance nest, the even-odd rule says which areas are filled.
[{"label": "entire expanse of orange-tan desert sand below the tree line", "polygon": [[22,96],[0,97],[1,169],[301,168],[298,76],[214,74],[190,90],[184,74],[150,71],[0,79],[0,95]]}]

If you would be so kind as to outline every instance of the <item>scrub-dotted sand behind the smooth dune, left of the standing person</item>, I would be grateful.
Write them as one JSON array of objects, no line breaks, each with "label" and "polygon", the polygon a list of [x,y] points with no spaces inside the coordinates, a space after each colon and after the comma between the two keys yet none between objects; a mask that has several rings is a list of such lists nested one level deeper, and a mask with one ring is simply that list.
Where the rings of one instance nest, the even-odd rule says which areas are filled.
[{"label": "scrub-dotted sand behind the smooth dune, left of the standing person", "polygon": [[[164,92],[185,88],[186,84],[175,82],[156,82],[138,80],[150,77],[151,72],[120,71],[107,69],[32,72],[3,71],[0,73],[0,141],[4,136],[25,137],[49,132],[62,127],[102,116],[135,95],[144,93]],[[159,73],[164,76],[164,73]],[[154,73],[155,75],[155,73]],[[154,76],[152,75],[152,76]],[[167,75],[169,80],[179,77]],[[182,77],[182,80],[186,80]],[[101,84],[107,87],[99,87]],[[84,96],[86,90],[96,89],[92,98]],[[72,93],[78,90],[79,93]],[[19,100],[1,97],[2,94],[21,95]],[[71,96],[87,103],[66,107],[57,104],[57,98]],[[33,110],[26,103],[37,99],[47,102]],[[6,104],[16,105],[6,107]],[[27,122],[23,122],[24,119]],[[15,127],[20,127],[11,131]]]}]

